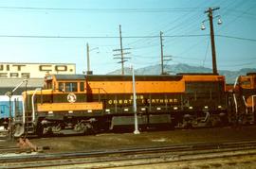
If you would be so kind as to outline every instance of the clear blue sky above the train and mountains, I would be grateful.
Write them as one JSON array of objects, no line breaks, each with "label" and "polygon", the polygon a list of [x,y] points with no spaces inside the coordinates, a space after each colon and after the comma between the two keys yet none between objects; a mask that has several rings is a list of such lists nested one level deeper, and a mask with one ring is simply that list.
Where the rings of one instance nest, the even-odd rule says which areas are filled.
[{"label": "clear blue sky above the train and mountains", "polygon": [[217,25],[218,18],[214,19],[215,34],[230,37],[215,37],[218,69],[255,68],[254,0],[1,0],[1,61],[70,62],[82,73],[88,42],[91,49],[99,47],[90,51],[91,69],[94,74],[106,74],[120,68],[113,50],[119,49],[121,25],[123,47],[131,48],[125,56],[132,58],[125,62],[127,67],[160,63],[157,36],[162,31],[164,55],[173,56],[168,64],[211,68],[209,23],[206,30],[200,29],[209,7],[220,7],[214,16],[220,15],[223,24]]}]

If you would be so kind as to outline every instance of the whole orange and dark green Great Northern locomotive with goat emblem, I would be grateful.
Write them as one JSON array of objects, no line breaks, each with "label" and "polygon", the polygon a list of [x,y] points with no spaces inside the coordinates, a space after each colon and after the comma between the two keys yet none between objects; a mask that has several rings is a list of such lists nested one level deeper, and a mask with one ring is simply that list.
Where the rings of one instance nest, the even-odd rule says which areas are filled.
[{"label": "whole orange and dark green Great Northern locomotive with goat emblem", "polygon": [[[225,77],[212,74],[136,76],[142,127],[228,124]],[[87,133],[134,125],[132,76],[48,75],[44,89],[23,93],[15,136]]]}]

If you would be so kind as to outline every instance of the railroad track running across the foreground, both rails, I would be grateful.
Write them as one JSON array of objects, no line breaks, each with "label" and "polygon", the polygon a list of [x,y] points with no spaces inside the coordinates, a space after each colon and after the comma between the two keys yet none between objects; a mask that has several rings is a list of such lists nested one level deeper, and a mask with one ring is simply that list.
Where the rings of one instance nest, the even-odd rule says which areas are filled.
[{"label": "railroad track running across the foreground, both rails", "polygon": [[58,154],[20,154],[2,156],[0,168],[35,168],[64,166],[64,168],[108,168],[179,161],[202,161],[229,157],[254,157],[256,141],[188,144],[155,147],[134,147],[119,150]]}]

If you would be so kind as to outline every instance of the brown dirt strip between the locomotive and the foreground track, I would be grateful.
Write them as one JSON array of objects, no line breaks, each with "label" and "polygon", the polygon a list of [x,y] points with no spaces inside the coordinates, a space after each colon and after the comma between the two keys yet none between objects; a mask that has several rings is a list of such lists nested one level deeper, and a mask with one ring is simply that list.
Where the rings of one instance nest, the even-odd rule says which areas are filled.
[{"label": "brown dirt strip between the locomotive and the foreground track", "polygon": [[37,146],[48,146],[46,153],[121,149],[170,144],[195,144],[256,140],[256,127],[219,127],[175,129],[134,133],[103,133],[86,136],[62,136],[30,139]]}]

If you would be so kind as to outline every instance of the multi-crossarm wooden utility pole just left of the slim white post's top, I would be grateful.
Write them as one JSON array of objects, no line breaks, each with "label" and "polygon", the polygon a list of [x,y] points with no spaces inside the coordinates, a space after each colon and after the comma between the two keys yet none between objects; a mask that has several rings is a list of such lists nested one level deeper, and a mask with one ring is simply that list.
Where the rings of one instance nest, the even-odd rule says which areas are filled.
[{"label": "multi-crossarm wooden utility pole just left of the slim white post's top", "polygon": [[127,57],[123,57],[124,55],[130,54],[130,52],[123,52],[124,50],[128,50],[131,48],[123,48],[122,47],[122,37],[121,37],[121,25],[119,25],[119,40],[120,40],[120,48],[119,49],[114,49],[114,52],[120,52],[119,54],[114,54],[113,56],[120,56],[120,57],[115,57],[114,59],[120,59],[120,61],[118,63],[121,63],[121,75],[124,75],[124,62],[127,61],[127,59],[131,59],[131,58],[127,58]]}]

